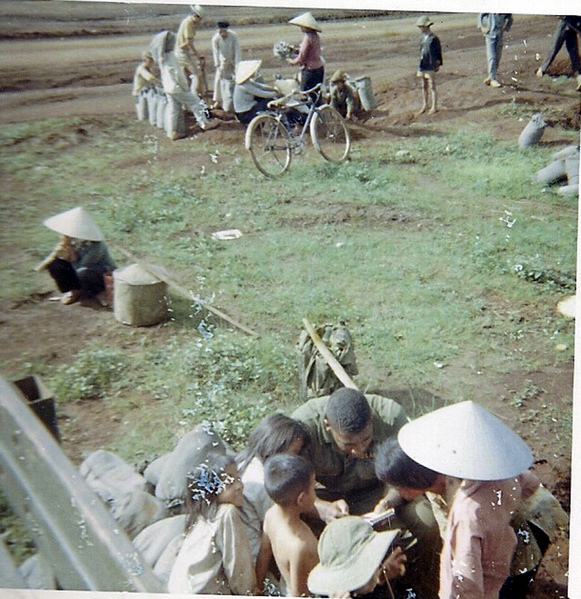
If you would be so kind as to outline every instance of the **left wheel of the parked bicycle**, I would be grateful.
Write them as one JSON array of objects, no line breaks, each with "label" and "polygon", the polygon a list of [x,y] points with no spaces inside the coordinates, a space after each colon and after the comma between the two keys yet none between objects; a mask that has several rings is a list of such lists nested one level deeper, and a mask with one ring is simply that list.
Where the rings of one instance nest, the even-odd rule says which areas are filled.
[{"label": "left wheel of the parked bicycle", "polygon": [[245,145],[256,168],[267,177],[279,177],[290,166],[288,132],[270,114],[259,114],[250,121],[246,129]]}]

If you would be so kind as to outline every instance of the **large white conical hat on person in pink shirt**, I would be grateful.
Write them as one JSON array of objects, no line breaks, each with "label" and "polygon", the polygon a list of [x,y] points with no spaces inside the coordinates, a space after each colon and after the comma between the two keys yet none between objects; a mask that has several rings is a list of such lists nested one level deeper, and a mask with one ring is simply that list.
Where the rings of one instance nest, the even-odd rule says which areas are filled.
[{"label": "large white conical hat on person in pink shirt", "polygon": [[473,401],[412,420],[401,428],[398,441],[418,464],[469,480],[512,478],[533,462],[528,445]]}]

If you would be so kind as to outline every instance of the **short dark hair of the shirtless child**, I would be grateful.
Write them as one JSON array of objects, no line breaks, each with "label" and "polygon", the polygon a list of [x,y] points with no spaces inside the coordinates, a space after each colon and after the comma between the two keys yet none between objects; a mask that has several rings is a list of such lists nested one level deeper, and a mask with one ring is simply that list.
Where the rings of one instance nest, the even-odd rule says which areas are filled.
[{"label": "short dark hair of the shirtless child", "polygon": [[264,463],[264,487],[275,503],[291,505],[308,492],[314,472],[313,464],[303,456],[279,453]]}]

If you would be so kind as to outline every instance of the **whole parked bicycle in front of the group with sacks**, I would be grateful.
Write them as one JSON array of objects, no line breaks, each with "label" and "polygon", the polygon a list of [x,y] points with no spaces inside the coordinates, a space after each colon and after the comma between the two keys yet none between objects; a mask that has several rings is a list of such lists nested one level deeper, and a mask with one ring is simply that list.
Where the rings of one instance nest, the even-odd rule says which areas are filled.
[{"label": "whole parked bicycle in front of the group with sacks", "polygon": [[[338,163],[347,158],[351,138],[345,121],[328,104],[317,105],[321,95],[319,83],[312,89],[271,100],[268,111],[250,121],[244,145],[263,175],[278,177],[285,173],[293,154],[300,154],[305,149],[307,131],[313,146],[325,160]],[[302,123],[295,122],[299,113],[303,114]],[[300,127],[298,134],[295,132],[297,127]]]}]

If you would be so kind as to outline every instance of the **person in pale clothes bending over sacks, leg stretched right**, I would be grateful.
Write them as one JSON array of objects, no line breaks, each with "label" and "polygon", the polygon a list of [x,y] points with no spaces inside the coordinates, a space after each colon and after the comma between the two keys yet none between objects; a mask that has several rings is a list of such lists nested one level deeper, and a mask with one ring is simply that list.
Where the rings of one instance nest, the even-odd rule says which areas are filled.
[{"label": "person in pale clothes bending over sacks, leg stretched right", "polygon": [[183,106],[193,113],[198,125],[203,131],[215,129],[220,123],[210,120],[200,97],[188,88],[184,70],[174,54],[175,35],[171,31],[158,33],[150,43],[150,52],[158,63],[161,73],[163,91],[168,100],[168,127],[170,139],[178,139],[185,135],[185,127],[180,125],[183,119]]}]

